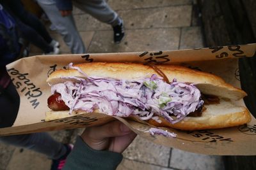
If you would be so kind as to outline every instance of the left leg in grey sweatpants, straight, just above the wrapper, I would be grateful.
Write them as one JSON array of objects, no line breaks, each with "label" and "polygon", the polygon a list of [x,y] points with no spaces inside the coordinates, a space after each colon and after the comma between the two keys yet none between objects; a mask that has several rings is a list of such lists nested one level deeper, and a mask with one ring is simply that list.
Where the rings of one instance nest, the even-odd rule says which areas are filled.
[{"label": "left leg in grey sweatpants, straight, just above the wrapper", "polygon": [[45,11],[46,15],[56,27],[57,31],[61,34],[71,52],[86,53],[83,40],[76,29],[73,16],[68,15],[67,17],[62,17],[60,11],[56,7],[55,1],[52,1],[51,4],[44,3],[44,0],[37,0],[37,2]]}]

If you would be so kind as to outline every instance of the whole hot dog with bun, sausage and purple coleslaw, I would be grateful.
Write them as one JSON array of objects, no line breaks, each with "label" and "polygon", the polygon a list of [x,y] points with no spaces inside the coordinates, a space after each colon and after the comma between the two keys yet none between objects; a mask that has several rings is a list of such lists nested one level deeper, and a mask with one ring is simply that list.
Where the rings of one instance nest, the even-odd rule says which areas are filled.
[{"label": "whole hot dog with bun, sausage and purple coleslaw", "polygon": [[246,96],[243,90],[181,66],[84,63],[55,71],[47,82],[53,96],[46,120],[99,112],[186,130],[250,122],[248,110],[232,103]]}]

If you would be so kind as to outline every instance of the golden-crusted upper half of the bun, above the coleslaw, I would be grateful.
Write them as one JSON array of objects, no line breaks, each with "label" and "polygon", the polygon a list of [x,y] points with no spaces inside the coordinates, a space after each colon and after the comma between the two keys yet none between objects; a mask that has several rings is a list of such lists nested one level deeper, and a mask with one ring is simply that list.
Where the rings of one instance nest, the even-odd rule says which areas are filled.
[{"label": "golden-crusted upper half of the bun, above the coleslaw", "polygon": [[[88,76],[98,76],[104,78],[127,79],[143,78],[157,74],[150,66],[145,66],[138,63],[110,63],[110,62],[92,62],[75,65],[79,67]],[[241,99],[246,96],[246,93],[225,83],[223,79],[214,74],[195,71],[187,67],[176,65],[159,65],[157,66],[166,74],[171,81],[176,78],[180,82],[195,83],[196,87],[204,94],[212,94],[228,99]],[[84,75],[76,69],[60,69],[54,71],[47,82],[56,84],[63,82],[64,77],[77,76],[84,78]]]}]

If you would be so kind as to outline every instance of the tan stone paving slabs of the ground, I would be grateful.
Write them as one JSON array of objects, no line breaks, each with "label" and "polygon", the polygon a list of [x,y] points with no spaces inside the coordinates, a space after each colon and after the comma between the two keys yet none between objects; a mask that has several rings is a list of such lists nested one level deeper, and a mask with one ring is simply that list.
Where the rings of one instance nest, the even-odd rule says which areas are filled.
[{"label": "tan stone paving slabs of the ground", "polygon": [[[200,48],[203,45],[201,27],[191,0],[109,0],[109,5],[124,19],[125,38],[113,43],[111,27],[102,24],[83,11],[74,8],[77,29],[89,53],[136,52],[147,50],[177,50]],[[47,26],[48,27],[48,26]],[[61,43],[61,53],[70,53],[61,36],[51,31]],[[41,54],[35,46],[31,55]],[[58,141],[74,143],[83,129],[54,131]],[[0,144],[0,170],[49,169],[51,160],[39,153]],[[224,169],[220,156],[199,155],[175,148],[155,145],[137,137],[125,150],[118,170],[128,169]]]}]

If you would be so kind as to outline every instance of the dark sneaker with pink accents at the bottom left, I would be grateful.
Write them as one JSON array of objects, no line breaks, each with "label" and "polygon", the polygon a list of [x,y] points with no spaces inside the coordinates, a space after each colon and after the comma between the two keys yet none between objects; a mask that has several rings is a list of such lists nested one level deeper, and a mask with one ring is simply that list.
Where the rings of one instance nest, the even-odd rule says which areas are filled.
[{"label": "dark sneaker with pink accents at the bottom left", "polygon": [[72,144],[65,145],[67,152],[59,159],[52,160],[51,170],[61,170],[64,167],[67,156],[72,151],[73,146]]}]

